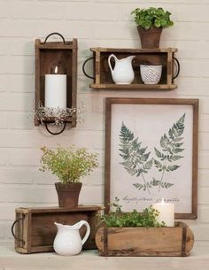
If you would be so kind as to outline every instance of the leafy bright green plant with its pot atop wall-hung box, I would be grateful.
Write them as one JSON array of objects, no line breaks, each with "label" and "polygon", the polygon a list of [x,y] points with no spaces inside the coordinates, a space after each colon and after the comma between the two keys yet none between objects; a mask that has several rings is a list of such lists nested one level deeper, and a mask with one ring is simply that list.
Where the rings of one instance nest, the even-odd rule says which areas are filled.
[{"label": "leafy bright green plant with its pot atop wall-hung box", "polygon": [[142,48],[159,48],[162,29],[174,25],[170,19],[171,12],[164,11],[161,7],[136,8],[131,14],[135,15],[135,24],[140,35]]}]

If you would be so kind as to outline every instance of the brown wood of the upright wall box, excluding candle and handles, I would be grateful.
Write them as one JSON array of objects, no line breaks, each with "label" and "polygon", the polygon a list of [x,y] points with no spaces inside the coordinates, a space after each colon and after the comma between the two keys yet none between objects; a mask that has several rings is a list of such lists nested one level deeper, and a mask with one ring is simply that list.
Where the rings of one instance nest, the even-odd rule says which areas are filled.
[{"label": "brown wood of the upright wall box, excluding candle and handles", "polygon": [[[35,109],[41,102],[44,106],[44,84],[45,74],[50,73],[53,66],[61,64],[66,73],[66,106],[67,108],[76,108],[77,96],[77,39],[72,42],[41,42],[35,40]],[[46,122],[52,122],[54,119],[45,119]],[[68,117],[65,120],[76,126],[76,120]],[[35,126],[39,126],[40,121],[35,120]]]}]

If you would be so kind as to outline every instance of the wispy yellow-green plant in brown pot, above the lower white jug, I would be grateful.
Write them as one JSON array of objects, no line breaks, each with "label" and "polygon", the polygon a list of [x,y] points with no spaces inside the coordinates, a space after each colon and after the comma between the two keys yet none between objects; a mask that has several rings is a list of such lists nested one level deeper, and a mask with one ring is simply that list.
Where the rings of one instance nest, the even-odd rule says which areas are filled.
[{"label": "wispy yellow-green plant in brown pot, above the lower white jug", "polygon": [[41,171],[50,171],[58,176],[55,183],[59,207],[76,207],[81,191],[81,177],[89,175],[98,166],[97,153],[89,153],[85,148],[58,147],[50,150],[43,146]]}]

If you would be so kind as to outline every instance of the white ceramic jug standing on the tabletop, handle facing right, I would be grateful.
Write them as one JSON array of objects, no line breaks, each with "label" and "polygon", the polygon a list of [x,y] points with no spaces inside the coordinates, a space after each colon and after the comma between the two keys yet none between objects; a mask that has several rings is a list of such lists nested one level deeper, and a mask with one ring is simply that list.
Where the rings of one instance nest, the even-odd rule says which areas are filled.
[{"label": "white ceramic jug standing on the tabletop, handle facing right", "polygon": [[[81,220],[73,226],[62,225],[54,222],[58,228],[58,234],[54,239],[54,250],[63,256],[76,255],[81,252],[82,245],[85,243],[90,234],[89,223],[85,220]],[[85,225],[87,228],[86,235],[81,240],[79,229]]]}]

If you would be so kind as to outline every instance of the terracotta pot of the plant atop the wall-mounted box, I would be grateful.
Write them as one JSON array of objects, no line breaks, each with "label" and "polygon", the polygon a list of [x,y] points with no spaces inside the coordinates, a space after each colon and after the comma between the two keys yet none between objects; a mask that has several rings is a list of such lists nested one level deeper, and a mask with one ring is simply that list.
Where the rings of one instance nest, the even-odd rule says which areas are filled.
[{"label": "terracotta pot of the plant atop the wall-mounted box", "polygon": [[156,49],[159,48],[160,35],[162,33],[162,27],[151,27],[150,29],[144,29],[143,27],[137,27],[141,44],[143,49]]}]

